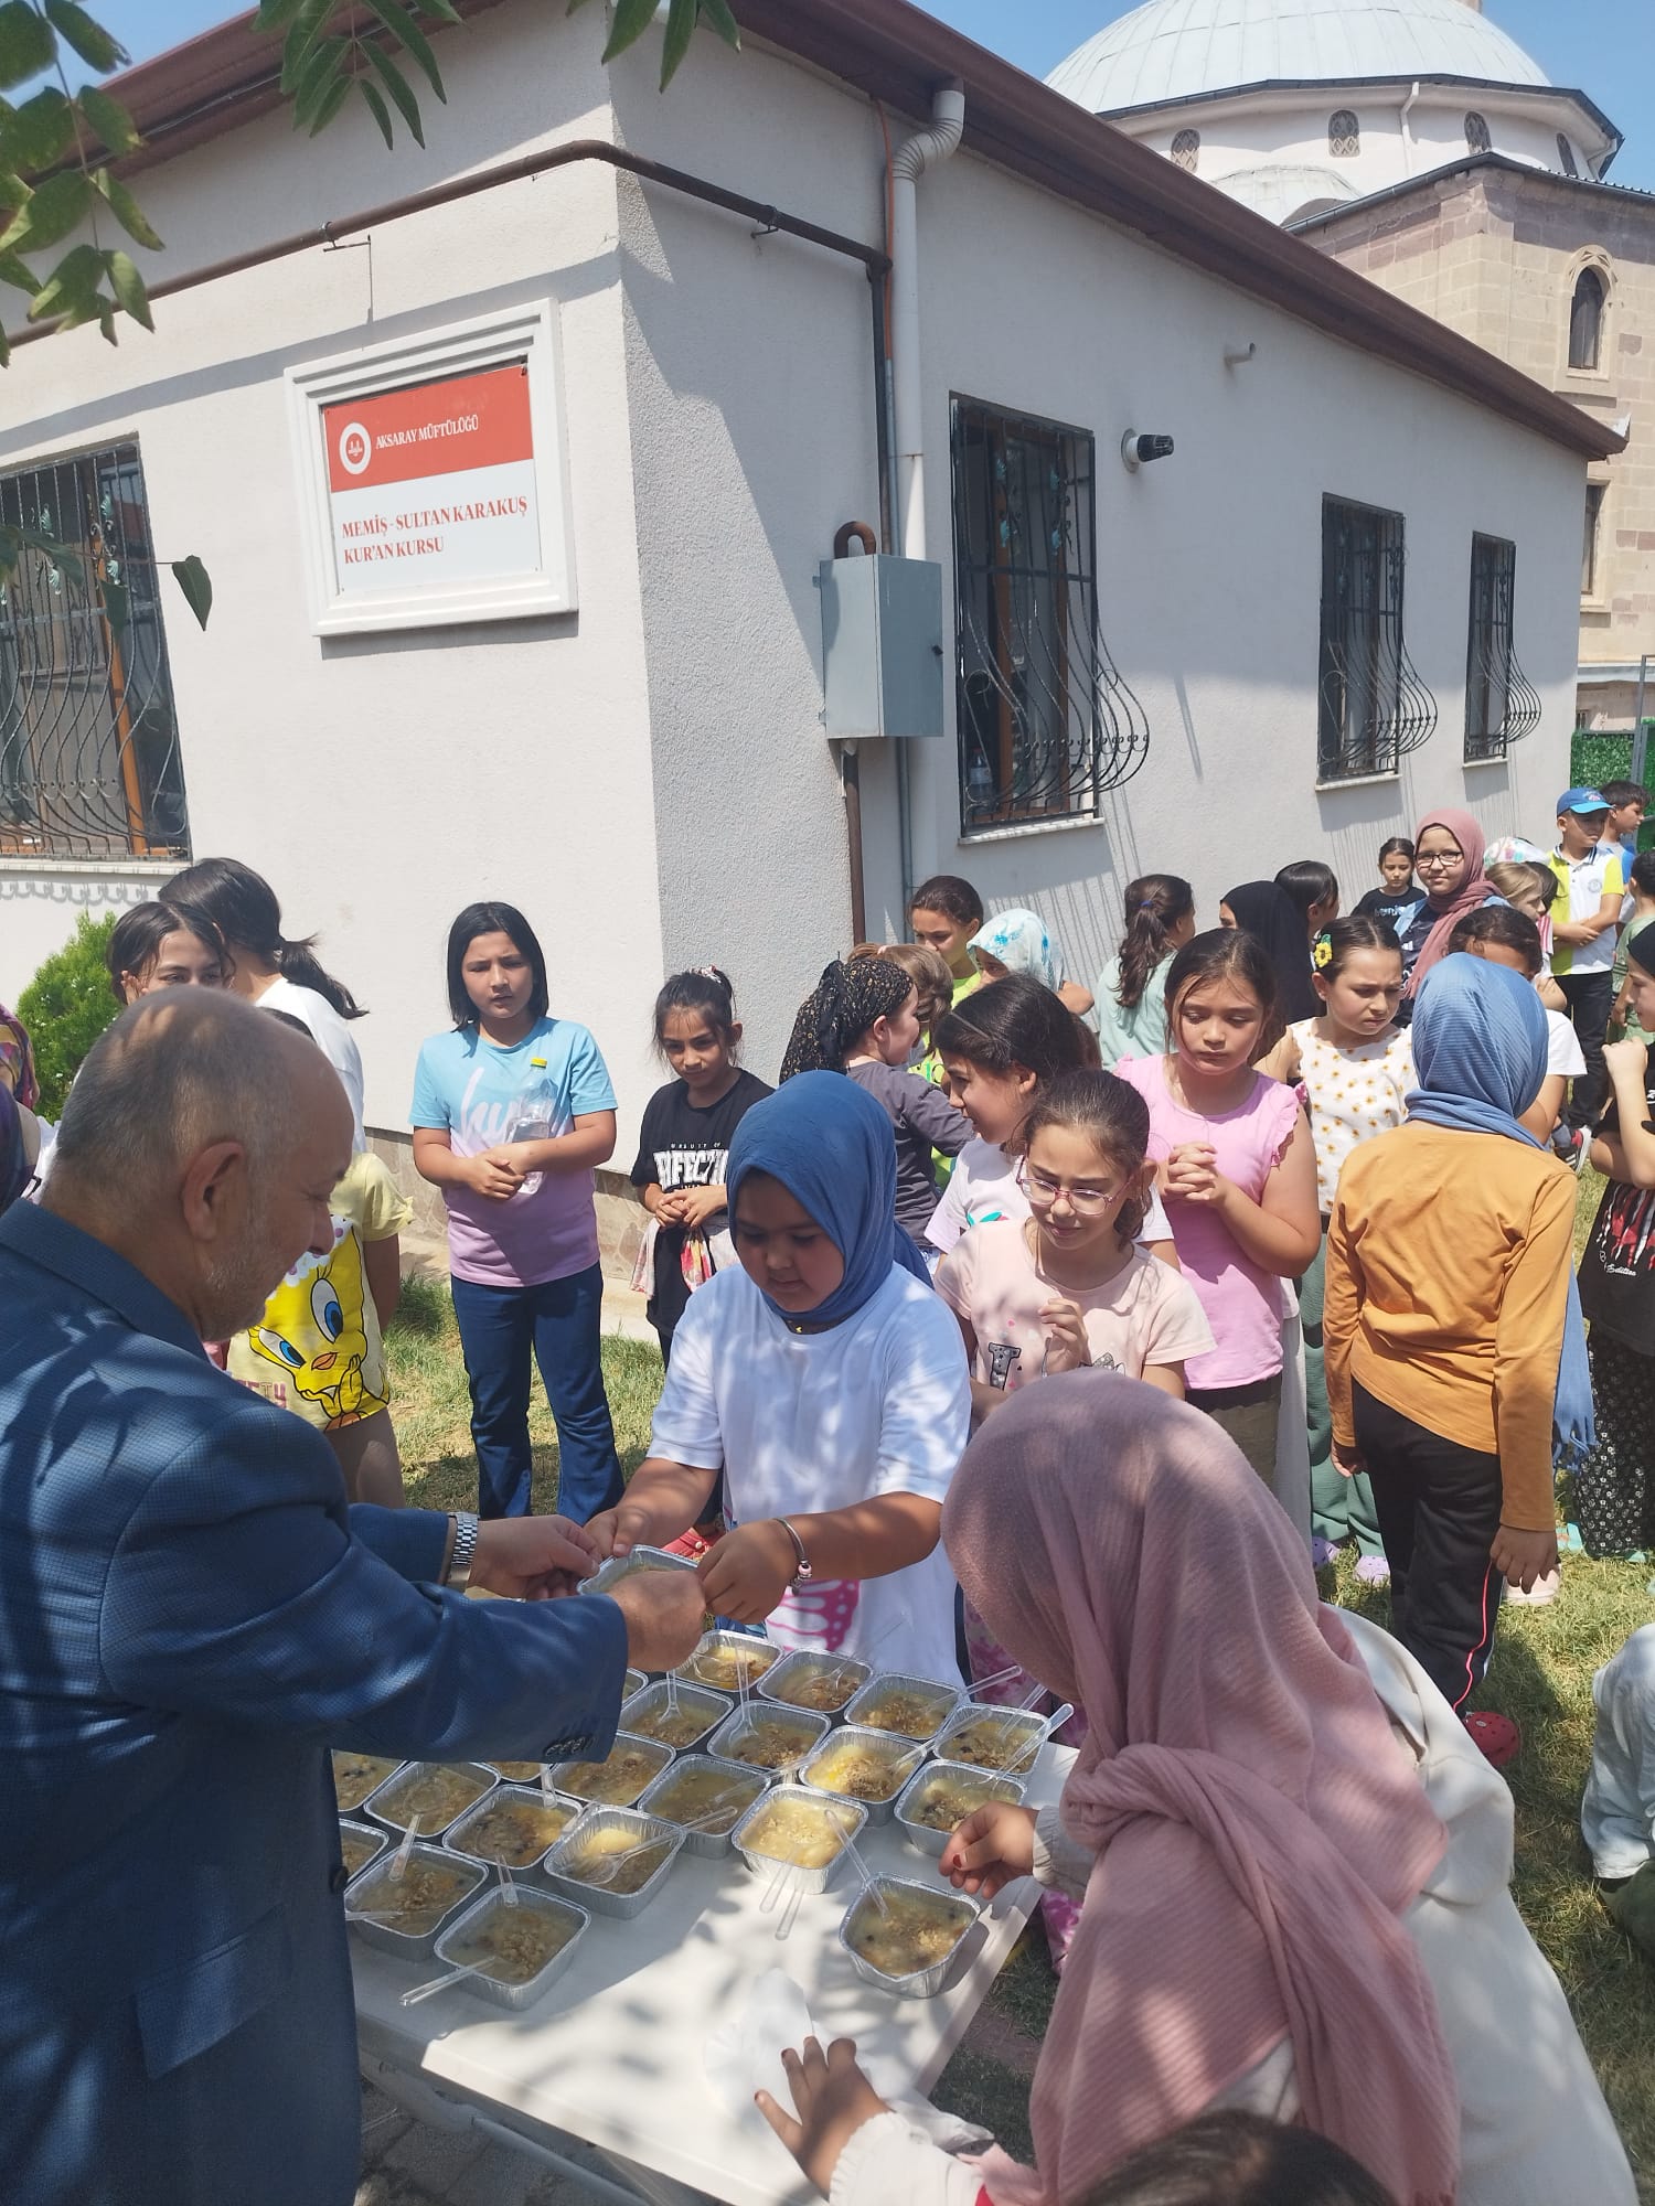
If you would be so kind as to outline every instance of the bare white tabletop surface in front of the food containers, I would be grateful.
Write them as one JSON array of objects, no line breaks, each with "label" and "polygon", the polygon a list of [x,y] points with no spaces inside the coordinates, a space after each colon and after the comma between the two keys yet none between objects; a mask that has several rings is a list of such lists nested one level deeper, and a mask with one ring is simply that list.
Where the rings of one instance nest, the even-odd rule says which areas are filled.
[{"label": "bare white tabletop surface in front of the food containers", "polygon": [[[1072,1752],[1046,1747],[1028,1805],[1057,1798]],[[869,1824],[872,1868],[940,1884],[898,1824]],[[891,1999],[865,1983],[839,1946],[856,1891],[850,1868],[821,1897],[803,1897],[792,1930],[759,1913],[764,1880],[739,1855],[680,1857],[658,1899],[636,1919],[594,1915],[572,1968],[523,2014],[488,2007],[461,1985],[417,2007],[402,1992],[437,1963],[393,1961],[351,1939],[357,2032],[366,2060],[439,2085],[519,2135],[556,2146],[580,2138],[627,2164],[631,2188],[671,2199],[677,2186],[730,2206],[805,2206],[814,2199],[757,2111],[735,2120],[702,2067],[711,2030],[741,2012],[750,1985],[783,1968],[810,2001],[823,2036],[856,2038],[929,2093],[1004,1968],[1035,1899],[1011,1886],[973,1930],[975,1952],[940,1999]]]}]

